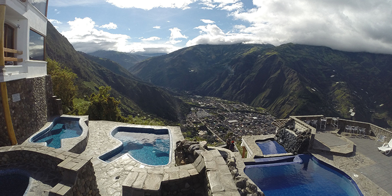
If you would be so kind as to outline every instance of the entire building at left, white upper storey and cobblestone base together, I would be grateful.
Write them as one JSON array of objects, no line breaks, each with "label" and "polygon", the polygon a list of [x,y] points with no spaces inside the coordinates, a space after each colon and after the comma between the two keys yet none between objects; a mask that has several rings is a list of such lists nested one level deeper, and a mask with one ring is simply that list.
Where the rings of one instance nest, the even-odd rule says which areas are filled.
[{"label": "entire building at left, white upper storey and cobblestone base together", "polygon": [[53,115],[47,7],[48,0],[0,0],[0,146],[22,143]]}]

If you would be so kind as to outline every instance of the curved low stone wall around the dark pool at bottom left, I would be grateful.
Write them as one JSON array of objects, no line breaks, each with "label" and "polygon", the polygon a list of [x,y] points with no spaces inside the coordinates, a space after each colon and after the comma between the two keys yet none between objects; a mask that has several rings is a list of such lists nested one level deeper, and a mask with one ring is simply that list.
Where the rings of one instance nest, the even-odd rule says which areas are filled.
[{"label": "curved low stone wall around the dark pool at bottom left", "polygon": [[[0,166],[31,164],[52,168],[62,180],[50,190],[52,196],[99,196],[91,157],[37,144],[0,147]],[[39,180],[39,179],[36,179]]]}]

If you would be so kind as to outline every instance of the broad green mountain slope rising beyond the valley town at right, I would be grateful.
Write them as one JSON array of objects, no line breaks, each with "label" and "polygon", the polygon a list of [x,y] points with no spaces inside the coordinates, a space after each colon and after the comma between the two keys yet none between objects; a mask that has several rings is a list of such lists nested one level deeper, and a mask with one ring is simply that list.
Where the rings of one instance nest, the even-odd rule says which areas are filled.
[{"label": "broad green mountain slope rising beyond the valley town at right", "polygon": [[130,70],[157,85],[242,101],[279,118],[349,119],[353,109],[353,120],[392,125],[392,55],[297,44],[198,45]]}]

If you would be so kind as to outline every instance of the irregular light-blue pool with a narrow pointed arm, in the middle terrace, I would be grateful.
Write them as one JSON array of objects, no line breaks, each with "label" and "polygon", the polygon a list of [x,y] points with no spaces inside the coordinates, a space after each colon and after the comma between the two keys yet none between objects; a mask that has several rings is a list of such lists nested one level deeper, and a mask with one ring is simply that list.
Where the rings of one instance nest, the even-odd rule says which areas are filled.
[{"label": "irregular light-blue pool with a narrow pointed arm, in the middle terrace", "polygon": [[99,156],[112,162],[124,154],[146,165],[167,165],[170,160],[170,135],[167,129],[118,127],[111,135],[122,144]]}]

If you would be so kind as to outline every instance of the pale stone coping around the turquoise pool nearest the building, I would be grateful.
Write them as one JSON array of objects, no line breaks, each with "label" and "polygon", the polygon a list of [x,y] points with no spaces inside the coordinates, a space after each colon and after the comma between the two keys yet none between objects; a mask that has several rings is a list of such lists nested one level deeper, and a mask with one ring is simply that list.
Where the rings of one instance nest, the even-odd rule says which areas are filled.
[{"label": "pale stone coping around the turquoise pool nearest the building", "polygon": [[61,139],[61,147],[58,149],[62,149],[68,152],[73,152],[76,154],[80,154],[81,152],[84,151],[84,149],[87,146],[87,141],[88,141],[88,136],[89,136],[89,131],[88,131],[88,116],[71,116],[71,115],[62,115],[60,117],[56,117],[53,119],[52,122],[48,122],[43,128],[41,128],[39,131],[31,135],[26,141],[24,141],[22,144],[27,144],[27,143],[33,143],[33,144],[38,144],[38,145],[43,145],[47,146],[48,144],[46,142],[32,142],[31,139],[36,137],[39,134],[44,134],[43,132],[49,131],[53,127],[53,123],[60,118],[72,118],[72,119],[79,119],[79,126],[80,129],[82,130],[82,134],[77,137],[70,137],[70,138],[64,138]]}]

